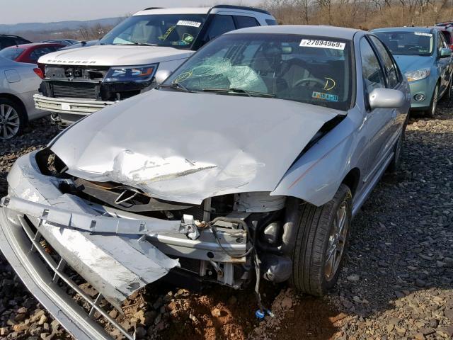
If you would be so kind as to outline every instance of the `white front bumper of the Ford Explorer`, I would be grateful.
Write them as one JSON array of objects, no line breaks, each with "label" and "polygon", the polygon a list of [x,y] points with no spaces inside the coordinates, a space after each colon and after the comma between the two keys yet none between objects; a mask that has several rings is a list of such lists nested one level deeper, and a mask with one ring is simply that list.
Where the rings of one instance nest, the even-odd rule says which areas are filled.
[{"label": "white front bumper of the Ford Explorer", "polygon": [[76,98],[52,98],[35,94],[35,108],[55,113],[53,119],[62,125],[71,125],[77,120],[115,104],[115,101],[91,101]]}]

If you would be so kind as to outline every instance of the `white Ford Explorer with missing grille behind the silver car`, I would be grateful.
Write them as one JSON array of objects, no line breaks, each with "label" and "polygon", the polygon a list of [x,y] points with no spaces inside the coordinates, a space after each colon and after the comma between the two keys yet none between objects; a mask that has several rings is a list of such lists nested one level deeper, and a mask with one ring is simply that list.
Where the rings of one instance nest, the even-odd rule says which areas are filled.
[{"label": "white Ford Explorer with missing grille behind the silver car", "polygon": [[202,45],[223,33],[276,25],[267,11],[243,6],[147,8],[113,28],[98,45],[40,58],[45,79],[35,106],[60,126],[153,89]]}]

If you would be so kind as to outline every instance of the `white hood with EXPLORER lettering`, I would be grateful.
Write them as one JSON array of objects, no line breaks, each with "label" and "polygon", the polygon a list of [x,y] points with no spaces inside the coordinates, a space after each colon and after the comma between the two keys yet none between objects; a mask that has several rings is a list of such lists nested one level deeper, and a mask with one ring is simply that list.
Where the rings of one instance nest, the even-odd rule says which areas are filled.
[{"label": "white hood with EXPLORER lettering", "polygon": [[98,66],[129,66],[186,59],[193,51],[160,46],[96,45],[62,50],[40,57],[40,64],[74,64]]}]

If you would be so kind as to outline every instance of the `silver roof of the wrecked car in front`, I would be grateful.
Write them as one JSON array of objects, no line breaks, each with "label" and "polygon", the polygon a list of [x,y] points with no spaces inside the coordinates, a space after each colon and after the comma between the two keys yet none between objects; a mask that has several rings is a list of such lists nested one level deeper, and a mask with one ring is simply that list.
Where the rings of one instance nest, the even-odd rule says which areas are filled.
[{"label": "silver roof of the wrecked car in front", "polygon": [[242,28],[240,30],[234,30],[226,34],[235,33],[300,34],[352,40],[352,38],[354,38],[355,33],[357,32],[365,33],[363,30],[336,26],[281,25],[281,26],[258,26]]}]

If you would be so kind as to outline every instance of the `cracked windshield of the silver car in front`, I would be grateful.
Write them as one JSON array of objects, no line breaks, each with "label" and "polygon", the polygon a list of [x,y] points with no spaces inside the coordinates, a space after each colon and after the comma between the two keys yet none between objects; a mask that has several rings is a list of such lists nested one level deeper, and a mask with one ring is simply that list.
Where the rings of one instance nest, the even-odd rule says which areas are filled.
[{"label": "cracked windshield of the silver car in front", "polygon": [[197,52],[162,88],[263,96],[346,111],[349,40],[306,35],[227,34]]}]

